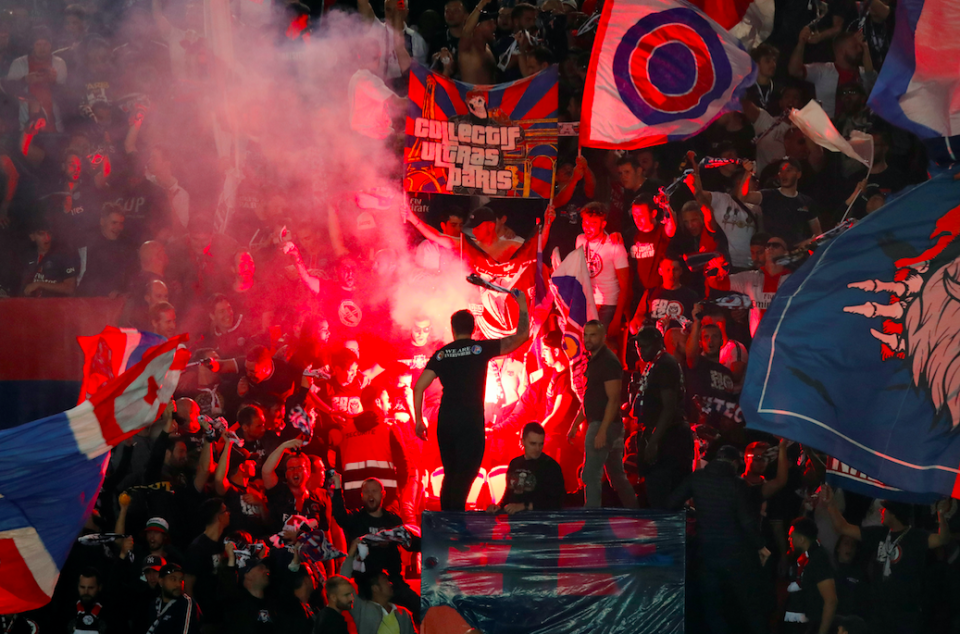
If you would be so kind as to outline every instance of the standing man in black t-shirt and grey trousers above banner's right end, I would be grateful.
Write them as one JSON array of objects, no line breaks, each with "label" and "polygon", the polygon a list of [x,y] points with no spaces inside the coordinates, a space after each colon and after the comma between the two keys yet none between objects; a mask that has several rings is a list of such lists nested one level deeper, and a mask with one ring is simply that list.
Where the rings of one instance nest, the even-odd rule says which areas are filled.
[{"label": "standing man in black t-shirt and grey trousers above banner's right end", "polygon": [[577,414],[567,437],[570,440],[587,421],[584,438],[583,487],[587,508],[600,508],[604,472],[627,508],[638,508],[637,496],[623,470],[623,419],[620,417],[620,385],[623,366],[606,346],[606,329],[598,319],[583,327],[583,347],[590,353],[587,362],[587,389],[583,409]]}]

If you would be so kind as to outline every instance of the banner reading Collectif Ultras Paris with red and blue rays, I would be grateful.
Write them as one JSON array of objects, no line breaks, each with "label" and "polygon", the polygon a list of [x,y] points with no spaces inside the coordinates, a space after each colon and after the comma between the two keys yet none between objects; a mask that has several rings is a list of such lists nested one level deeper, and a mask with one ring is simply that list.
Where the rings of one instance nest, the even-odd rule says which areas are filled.
[{"label": "banner reading Collectif Ultras Paris with red and blue rays", "polygon": [[410,70],[404,189],[550,198],[557,159],[556,66],[474,86],[417,63]]}]

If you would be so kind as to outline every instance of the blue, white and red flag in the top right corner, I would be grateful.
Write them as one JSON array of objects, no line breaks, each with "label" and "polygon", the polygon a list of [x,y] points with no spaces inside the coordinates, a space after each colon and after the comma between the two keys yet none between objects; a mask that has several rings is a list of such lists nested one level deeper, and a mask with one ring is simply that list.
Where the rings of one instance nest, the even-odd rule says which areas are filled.
[{"label": "blue, white and red flag in the top right corner", "polygon": [[[870,107],[922,139],[960,135],[960,40],[953,37],[960,32],[960,8],[955,0],[904,0],[896,11]],[[960,147],[950,154],[956,162]]]}]

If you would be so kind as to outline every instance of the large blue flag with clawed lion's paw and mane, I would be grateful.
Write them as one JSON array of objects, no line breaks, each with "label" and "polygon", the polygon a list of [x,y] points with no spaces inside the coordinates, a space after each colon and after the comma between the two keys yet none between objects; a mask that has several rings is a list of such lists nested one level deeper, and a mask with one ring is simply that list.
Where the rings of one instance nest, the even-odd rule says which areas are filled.
[{"label": "large blue flag with clawed lion's paw and mane", "polygon": [[958,202],[960,181],[937,176],[784,282],[750,349],[748,427],[820,449],[874,486],[960,496]]}]

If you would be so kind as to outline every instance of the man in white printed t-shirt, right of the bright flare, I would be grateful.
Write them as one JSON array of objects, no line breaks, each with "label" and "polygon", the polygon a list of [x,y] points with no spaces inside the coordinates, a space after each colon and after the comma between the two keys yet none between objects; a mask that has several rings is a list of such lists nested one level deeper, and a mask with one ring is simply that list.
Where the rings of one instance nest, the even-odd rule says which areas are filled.
[{"label": "man in white printed t-shirt, right of the bright flare", "polygon": [[623,326],[623,313],[630,304],[630,264],[619,233],[608,234],[607,210],[602,203],[587,203],[580,211],[583,233],[576,248],[583,247],[590,269],[593,300],[607,336],[616,339]]}]

